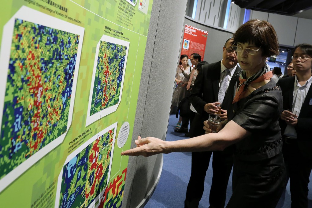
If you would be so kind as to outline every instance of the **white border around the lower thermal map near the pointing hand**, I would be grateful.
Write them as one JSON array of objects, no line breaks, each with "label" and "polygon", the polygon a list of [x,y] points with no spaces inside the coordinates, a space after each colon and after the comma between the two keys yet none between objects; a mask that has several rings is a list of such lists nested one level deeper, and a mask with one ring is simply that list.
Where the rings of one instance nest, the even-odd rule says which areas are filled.
[{"label": "white border around the lower thermal map near the pointing hand", "polygon": [[[112,170],[112,164],[113,164],[113,155],[114,155],[114,147],[115,147],[115,140],[116,140],[116,132],[117,132],[117,123],[113,123],[112,125],[110,125],[109,127],[106,127],[104,130],[100,131],[99,133],[95,134],[93,137],[91,137],[89,140],[87,140],[85,143],[83,143],[82,145],[80,145],[74,152],[72,152],[69,156],[67,156],[64,165],[61,169],[60,175],[58,177],[57,180],[57,188],[56,188],[56,197],[55,197],[55,208],[59,208],[60,206],[60,195],[61,195],[61,184],[62,184],[62,175],[63,175],[63,169],[64,166],[71,161],[71,159],[73,159],[78,153],[80,153],[82,150],[84,150],[89,144],[91,144],[92,142],[94,142],[97,138],[99,138],[100,136],[104,135],[105,133],[107,133],[109,130],[115,128],[114,131],[114,136],[113,136],[113,141],[112,141],[112,150],[111,150],[111,154],[110,154],[110,167],[108,169],[108,174],[107,174],[107,185],[110,182],[110,173]],[[110,145],[110,144],[108,144]],[[107,146],[105,146],[107,147]],[[105,188],[106,188],[105,187]],[[88,206],[88,208],[91,207],[95,207],[95,202],[100,200],[100,196],[103,196],[105,188],[103,189],[103,191],[100,192],[100,194],[98,196],[95,196],[94,200],[91,202],[90,206]]]}]

